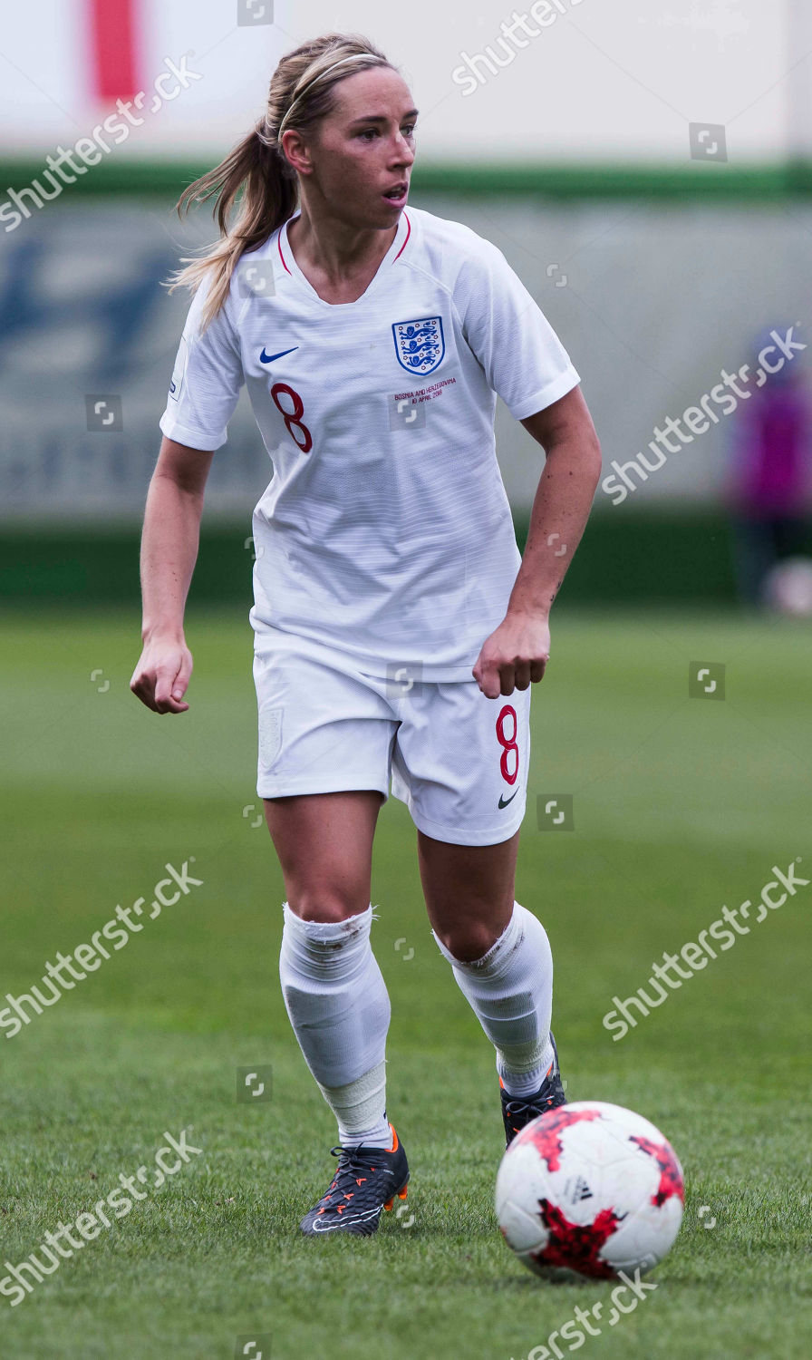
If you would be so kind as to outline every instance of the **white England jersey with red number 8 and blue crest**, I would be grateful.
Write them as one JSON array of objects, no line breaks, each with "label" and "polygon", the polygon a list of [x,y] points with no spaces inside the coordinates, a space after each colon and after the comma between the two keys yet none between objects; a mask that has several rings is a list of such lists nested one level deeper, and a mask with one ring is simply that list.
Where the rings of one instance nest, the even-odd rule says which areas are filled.
[{"label": "white England jersey with red number 8 and blue crest", "polygon": [[469,227],[405,209],[345,303],[318,296],[287,228],[243,256],[203,335],[199,288],[160,430],[219,449],[246,384],[273,462],[253,514],[252,624],[275,646],[347,653],[370,675],[471,680],[521,563],[496,393],[522,420],[579,377],[502,252]]}]

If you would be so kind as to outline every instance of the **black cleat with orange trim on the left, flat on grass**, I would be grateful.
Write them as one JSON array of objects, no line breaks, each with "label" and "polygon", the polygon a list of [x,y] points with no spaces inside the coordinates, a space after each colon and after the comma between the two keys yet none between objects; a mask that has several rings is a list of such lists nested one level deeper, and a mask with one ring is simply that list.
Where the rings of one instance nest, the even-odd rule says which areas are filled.
[{"label": "black cleat with orange trim on the left, flat on grass", "polygon": [[392,1209],[394,1197],[405,1200],[409,1167],[397,1133],[392,1129],[392,1146],[331,1148],[339,1157],[336,1175],[318,1204],[299,1224],[306,1238],[328,1232],[356,1232],[371,1238],[378,1231],[381,1210]]}]

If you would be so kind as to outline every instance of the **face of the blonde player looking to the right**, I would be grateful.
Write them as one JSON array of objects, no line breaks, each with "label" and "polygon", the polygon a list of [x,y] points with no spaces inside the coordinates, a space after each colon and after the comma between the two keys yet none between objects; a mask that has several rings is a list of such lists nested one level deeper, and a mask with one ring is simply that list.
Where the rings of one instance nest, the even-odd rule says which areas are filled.
[{"label": "face of the blonde player looking to the right", "polygon": [[[310,144],[325,205],[356,227],[392,227],[408,199],[418,110],[396,71],[359,71]],[[393,193],[394,190],[394,193]]]}]

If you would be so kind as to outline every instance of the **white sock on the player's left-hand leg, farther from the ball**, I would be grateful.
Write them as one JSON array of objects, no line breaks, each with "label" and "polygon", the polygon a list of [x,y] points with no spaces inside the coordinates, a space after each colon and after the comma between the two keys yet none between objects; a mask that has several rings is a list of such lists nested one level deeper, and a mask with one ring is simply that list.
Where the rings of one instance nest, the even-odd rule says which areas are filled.
[{"label": "white sock on the player's left-hand leg, farther from the ball", "polygon": [[282,994],[305,1061],[336,1115],[339,1141],[389,1148],[392,1009],[370,945],[371,904],[339,922],[302,921],[287,902],[282,910]]}]

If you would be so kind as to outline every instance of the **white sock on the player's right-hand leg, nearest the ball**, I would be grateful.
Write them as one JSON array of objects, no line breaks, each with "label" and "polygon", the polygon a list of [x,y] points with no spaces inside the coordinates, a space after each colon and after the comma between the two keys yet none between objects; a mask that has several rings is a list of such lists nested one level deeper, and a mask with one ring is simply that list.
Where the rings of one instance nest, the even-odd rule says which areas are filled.
[{"label": "white sock on the player's right-hand leg, nearest the ball", "polygon": [[513,915],[481,959],[461,962],[431,932],[457,985],[496,1049],[496,1072],[514,1096],[533,1095],[554,1059],[552,952],[537,917],[513,904]]}]

